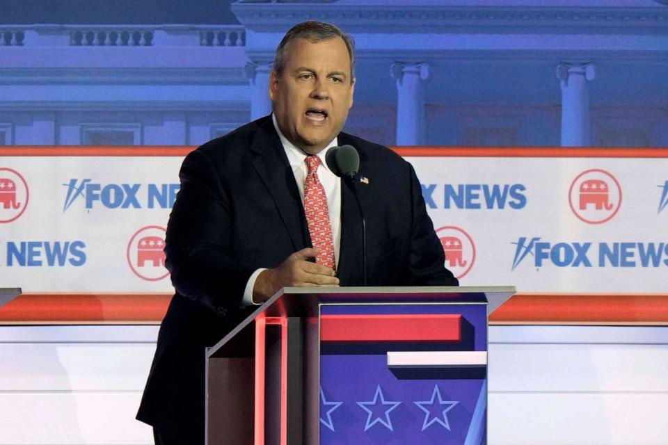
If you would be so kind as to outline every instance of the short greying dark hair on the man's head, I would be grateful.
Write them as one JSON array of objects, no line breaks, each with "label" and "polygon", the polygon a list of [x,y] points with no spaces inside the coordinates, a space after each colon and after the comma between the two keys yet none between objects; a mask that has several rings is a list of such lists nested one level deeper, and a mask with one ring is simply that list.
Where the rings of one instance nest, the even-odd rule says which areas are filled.
[{"label": "short greying dark hair on the man's head", "polygon": [[278,48],[276,48],[276,58],[273,59],[273,70],[279,76],[283,74],[287,46],[292,40],[303,38],[308,39],[309,42],[317,43],[336,37],[342,38],[348,49],[348,55],[350,56],[350,81],[352,83],[353,79],[355,79],[355,42],[350,35],[344,33],[338,26],[331,23],[302,22],[292,26],[292,29],[287,31],[283,40],[278,44]]}]

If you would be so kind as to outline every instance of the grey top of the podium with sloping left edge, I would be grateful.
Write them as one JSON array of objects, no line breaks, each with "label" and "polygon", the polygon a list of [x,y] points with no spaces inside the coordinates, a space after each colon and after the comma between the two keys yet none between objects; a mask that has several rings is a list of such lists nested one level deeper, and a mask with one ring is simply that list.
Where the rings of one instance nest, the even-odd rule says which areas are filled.
[{"label": "grey top of the podium with sloping left edge", "polygon": [[514,286],[285,287],[210,348],[207,356],[215,355],[261,314],[312,317],[318,316],[320,305],[479,304],[487,305],[489,315],[515,292]]}]

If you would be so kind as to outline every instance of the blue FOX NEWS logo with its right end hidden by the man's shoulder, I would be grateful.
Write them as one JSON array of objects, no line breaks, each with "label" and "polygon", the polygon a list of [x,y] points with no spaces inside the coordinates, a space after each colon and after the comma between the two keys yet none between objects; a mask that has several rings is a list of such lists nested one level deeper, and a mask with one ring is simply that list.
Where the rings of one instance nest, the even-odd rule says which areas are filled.
[{"label": "blue FOX NEWS logo with its right end hidden by the man's shoulder", "polygon": [[180,184],[99,184],[93,179],[70,179],[63,212],[74,202],[84,202],[87,210],[106,209],[171,209]]}]

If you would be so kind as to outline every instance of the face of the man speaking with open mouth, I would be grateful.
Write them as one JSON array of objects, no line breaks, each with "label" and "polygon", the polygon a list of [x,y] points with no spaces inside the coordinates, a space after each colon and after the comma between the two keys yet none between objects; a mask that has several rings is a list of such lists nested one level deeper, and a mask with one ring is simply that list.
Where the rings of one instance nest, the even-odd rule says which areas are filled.
[{"label": "face of the man speaking with open mouth", "polygon": [[269,97],[281,133],[309,154],[317,154],[343,128],[353,106],[350,57],[340,37],[287,45],[285,70],[271,72]]}]

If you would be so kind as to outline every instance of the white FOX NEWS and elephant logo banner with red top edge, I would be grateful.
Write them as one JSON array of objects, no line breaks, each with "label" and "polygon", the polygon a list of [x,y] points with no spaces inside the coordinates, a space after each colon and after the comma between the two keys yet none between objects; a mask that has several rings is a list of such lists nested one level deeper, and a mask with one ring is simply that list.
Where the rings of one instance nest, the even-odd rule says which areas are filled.
[{"label": "white FOX NEWS and elephant logo banner with red top edge", "polygon": [[[1,149],[1,285],[172,291],[162,248],[191,149]],[[446,266],[462,284],[666,290],[668,149],[397,152],[415,166]]]}]

